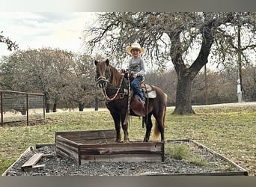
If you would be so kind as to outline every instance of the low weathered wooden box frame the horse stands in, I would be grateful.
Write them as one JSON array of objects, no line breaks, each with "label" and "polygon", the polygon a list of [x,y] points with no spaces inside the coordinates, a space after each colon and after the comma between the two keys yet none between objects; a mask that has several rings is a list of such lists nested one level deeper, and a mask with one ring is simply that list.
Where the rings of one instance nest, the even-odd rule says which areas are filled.
[{"label": "low weathered wooden box frame the horse stands in", "polygon": [[86,162],[164,161],[159,141],[115,143],[115,130],[55,132],[56,154]]}]

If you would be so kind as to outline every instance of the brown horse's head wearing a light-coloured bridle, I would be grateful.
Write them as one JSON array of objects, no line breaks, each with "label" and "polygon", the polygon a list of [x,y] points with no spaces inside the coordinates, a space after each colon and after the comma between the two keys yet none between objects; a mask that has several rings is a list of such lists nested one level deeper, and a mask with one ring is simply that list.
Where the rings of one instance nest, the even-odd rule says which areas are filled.
[{"label": "brown horse's head wearing a light-coloured bridle", "polygon": [[106,61],[94,61],[96,66],[96,79],[97,85],[100,88],[106,88],[111,79],[111,71],[109,68],[109,60]]}]

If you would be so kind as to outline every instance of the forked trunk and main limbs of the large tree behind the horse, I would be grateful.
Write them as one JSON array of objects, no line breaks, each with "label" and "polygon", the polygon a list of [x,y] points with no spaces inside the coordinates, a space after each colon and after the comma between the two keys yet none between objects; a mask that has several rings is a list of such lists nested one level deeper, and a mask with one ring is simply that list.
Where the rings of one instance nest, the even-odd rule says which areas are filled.
[{"label": "forked trunk and main limbs of the large tree behind the horse", "polygon": [[175,71],[177,73],[177,93],[176,93],[176,106],[173,114],[195,114],[192,109],[192,81],[198,72],[207,64],[208,56],[210,54],[210,48],[214,39],[214,19],[211,18],[211,14],[208,15],[208,19],[205,19],[204,29],[202,31],[202,43],[201,49],[198,53],[198,57],[191,64],[190,67],[186,67],[183,61],[183,48],[180,42],[181,30],[175,33],[170,33],[171,38],[171,60],[174,64]]}]

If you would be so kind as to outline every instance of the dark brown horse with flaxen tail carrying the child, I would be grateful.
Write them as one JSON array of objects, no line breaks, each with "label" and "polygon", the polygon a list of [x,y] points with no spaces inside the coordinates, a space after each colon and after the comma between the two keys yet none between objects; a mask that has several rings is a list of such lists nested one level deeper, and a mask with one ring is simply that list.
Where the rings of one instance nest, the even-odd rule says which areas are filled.
[{"label": "dark brown horse with flaxen tail carrying the child", "polygon": [[[103,61],[94,61],[96,66],[97,85],[100,87],[106,101],[106,107],[115,122],[116,138],[115,142],[121,142],[121,126],[124,131],[124,142],[129,142],[128,122],[127,116],[142,116],[142,121],[146,125],[146,133],[144,135],[144,142],[149,141],[150,132],[153,126],[151,116],[155,117],[155,127],[153,131],[154,137],[159,137],[161,134],[161,141],[165,141],[165,111],[167,104],[167,95],[160,88],[150,85],[156,96],[148,98],[144,103],[144,114],[139,114],[136,110],[131,108],[132,103],[135,102],[135,96],[132,96],[130,91],[129,81],[124,77],[115,67],[109,63],[109,59]],[[131,97],[133,98],[131,101]],[[135,104],[136,105],[136,104]],[[138,111],[138,110],[137,110]]]}]

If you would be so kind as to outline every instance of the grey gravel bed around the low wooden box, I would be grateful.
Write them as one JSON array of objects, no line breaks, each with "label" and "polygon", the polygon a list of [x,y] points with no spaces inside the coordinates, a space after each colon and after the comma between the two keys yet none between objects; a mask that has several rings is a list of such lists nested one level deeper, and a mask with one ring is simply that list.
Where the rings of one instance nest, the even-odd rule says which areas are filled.
[{"label": "grey gravel bed around the low wooden box", "polygon": [[[50,157],[43,157],[37,165],[45,165],[41,168],[33,168],[31,171],[22,171],[21,166],[28,161],[35,153],[50,154]],[[44,146],[22,156],[9,170],[6,176],[140,176],[140,175],[162,175],[162,174],[201,174],[201,173],[225,173],[231,171],[229,162],[207,152],[204,149],[193,149],[207,165],[196,165],[174,159],[171,155],[165,154],[164,162],[90,162],[78,165],[76,161],[68,158],[61,158],[55,154],[55,146]],[[232,171],[240,171],[239,168],[232,168]]]}]

